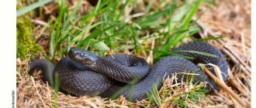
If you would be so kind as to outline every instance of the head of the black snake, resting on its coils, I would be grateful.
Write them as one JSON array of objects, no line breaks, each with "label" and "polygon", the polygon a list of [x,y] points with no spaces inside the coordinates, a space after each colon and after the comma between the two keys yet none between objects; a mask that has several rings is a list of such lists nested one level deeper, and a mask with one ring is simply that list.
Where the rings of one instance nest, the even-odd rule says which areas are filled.
[{"label": "head of the black snake, resting on its coils", "polygon": [[93,66],[98,59],[98,56],[95,55],[95,53],[77,48],[71,48],[68,52],[68,56],[74,60],[74,62],[79,62],[84,66]]}]

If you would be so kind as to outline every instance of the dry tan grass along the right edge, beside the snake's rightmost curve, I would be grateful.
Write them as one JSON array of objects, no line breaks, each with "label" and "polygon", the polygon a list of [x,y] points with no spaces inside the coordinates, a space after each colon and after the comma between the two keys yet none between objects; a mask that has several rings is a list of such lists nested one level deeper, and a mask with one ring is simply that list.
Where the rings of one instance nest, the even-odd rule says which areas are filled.
[{"label": "dry tan grass along the right edge, beside the snake's rightmost curve", "polygon": [[[221,34],[226,37],[213,44],[220,46],[229,61],[230,74],[227,85],[231,86],[245,103],[251,104],[251,1],[216,2],[219,6],[210,8],[200,19],[209,26],[209,29],[205,29],[208,34],[202,34]],[[215,101],[215,104],[223,104],[226,107],[240,107],[223,91],[209,97],[211,103]],[[218,101],[219,103],[216,103]]]}]

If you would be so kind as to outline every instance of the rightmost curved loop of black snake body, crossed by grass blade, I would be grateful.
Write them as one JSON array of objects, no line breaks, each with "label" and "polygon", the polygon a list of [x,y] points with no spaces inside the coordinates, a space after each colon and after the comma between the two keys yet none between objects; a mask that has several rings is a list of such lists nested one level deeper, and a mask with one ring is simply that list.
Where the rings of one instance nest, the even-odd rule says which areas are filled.
[{"label": "rightmost curved loop of black snake body, crossed by grass blade", "polygon": [[[220,52],[219,49],[216,49],[215,46],[211,46],[206,42],[189,42],[189,43],[183,44],[182,46],[179,46],[178,48],[174,49],[173,51],[178,51],[178,50],[201,51],[201,52],[213,54],[215,56],[219,56],[218,58],[216,58],[216,57],[210,57],[210,56],[203,56],[203,55],[196,54],[196,53],[181,52],[182,56],[189,56],[189,57],[195,58],[195,59],[192,59],[192,62],[194,62],[195,64],[197,64],[197,63],[204,63],[204,64],[212,63],[216,66],[219,66],[220,71],[223,72],[222,76],[223,76],[224,82],[227,80],[227,74],[228,74],[227,61],[226,61],[225,57],[223,56],[222,52]],[[214,72],[213,68],[211,68],[210,66],[206,66],[206,67],[212,73]],[[215,73],[213,73],[213,74],[216,75]],[[219,87],[220,87],[216,83],[214,83],[213,80],[209,80],[209,83],[211,83],[212,86],[214,86],[214,89],[219,89]],[[210,90],[213,90],[213,89],[210,89]]]}]

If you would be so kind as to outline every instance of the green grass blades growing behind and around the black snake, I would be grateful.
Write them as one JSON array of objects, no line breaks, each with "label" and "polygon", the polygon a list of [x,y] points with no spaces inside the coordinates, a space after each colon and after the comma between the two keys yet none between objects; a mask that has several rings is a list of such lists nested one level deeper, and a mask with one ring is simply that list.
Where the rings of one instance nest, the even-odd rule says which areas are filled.
[{"label": "green grass blades growing behind and around the black snake", "polygon": [[[38,2],[36,6],[29,5],[30,7],[23,8],[17,12],[17,15],[22,15],[46,3],[42,2]],[[181,44],[184,39],[203,41],[221,38],[192,38],[192,35],[201,30],[195,25],[196,20],[193,21],[192,17],[195,16],[199,6],[204,2],[202,0],[182,3],[178,0],[172,2],[161,0],[159,5],[154,5],[155,2],[147,2],[144,4],[143,15],[136,18],[133,18],[133,15],[138,13],[137,0],[122,2],[99,0],[98,5],[83,15],[78,14],[81,2],[82,0],[79,0],[74,9],[69,12],[70,5],[67,5],[67,1],[57,1],[59,9],[56,15],[57,19],[49,19],[48,24],[50,26],[43,27],[41,31],[50,29],[50,49],[44,53],[45,58],[54,61],[54,56],[67,56],[71,47],[77,47],[89,49],[100,56],[109,52],[124,52],[125,49],[130,49],[130,52],[137,56],[148,56],[149,52],[153,51],[154,61],[156,61],[162,56],[177,56],[177,52],[171,52],[171,49]],[[151,39],[155,39],[154,49],[150,49]],[[204,52],[179,52],[193,52],[215,57]],[[157,89],[153,90],[154,103],[161,105],[162,101]],[[191,100],[197,101],[198,95],[204,93],[200,92],[201,90],[202,88],[199,88],[191,93],[185,93],[185,95],[191,97]],[[185,104],[183,99],[175,100],[174,98],[171,101],[177,103],[178,106]]]}]

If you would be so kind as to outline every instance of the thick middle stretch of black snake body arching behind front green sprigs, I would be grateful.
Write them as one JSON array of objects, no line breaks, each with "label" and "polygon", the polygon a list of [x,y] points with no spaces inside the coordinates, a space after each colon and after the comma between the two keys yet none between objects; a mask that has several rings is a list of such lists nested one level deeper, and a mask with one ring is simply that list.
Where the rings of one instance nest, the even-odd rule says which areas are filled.
[{"label": "thick middle stretch of black snake body arching behind front green sprigs", "polygon": [[[136,83],[133,86],[128,87],[123,91],[123,93],[120,93],[119,95],[123,95],[124,97],[126,97],[127,100],[129,99],[131,101],[142,100],[147,97],[147,93],[150,93],[150,89],[152,89],[153,83],[156,84],[157,89],[160,89],[163,79],[175,72],[195,72],[197,74],[200,74],[200,77],[202,77],[202,79],[206,78],[206,74],[203,73],[198,66],[195,66],[195,64],[190,62],[189,60],[177,56],[167,56],[154,63],[154,66],[150,69],[149,75],[145,79],[143,79],[139,83]],[[182,74],[179,74],[178,78],[181,79]],[[194,81],[198,80],[199,77],[195,77]],[[206,79],[206,81],[208,81],[208,79]],[[116,86],[113,86],[111,88],[116,88]],[[115,91],[111,91],[112,89],[108,90],[109,91],[106,91],[105,93],[110,94],[104,95],[111,96],[112,93],[116,93]]]}]

